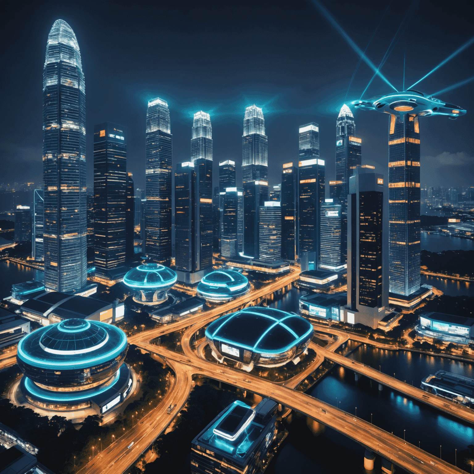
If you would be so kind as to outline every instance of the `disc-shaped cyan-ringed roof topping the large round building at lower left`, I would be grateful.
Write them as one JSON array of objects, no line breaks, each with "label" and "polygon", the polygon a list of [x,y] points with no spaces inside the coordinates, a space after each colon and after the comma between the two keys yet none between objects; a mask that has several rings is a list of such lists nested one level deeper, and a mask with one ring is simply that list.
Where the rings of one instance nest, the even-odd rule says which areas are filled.
[{"label": "disc-shaped cyan-ringed roof topping the large round building at lower left", "polygon": [[108,363],[126,351],[127,345],[125,333],[111,324],[65,319],[23,337],[17,358],[20,368],[77,370]]}]

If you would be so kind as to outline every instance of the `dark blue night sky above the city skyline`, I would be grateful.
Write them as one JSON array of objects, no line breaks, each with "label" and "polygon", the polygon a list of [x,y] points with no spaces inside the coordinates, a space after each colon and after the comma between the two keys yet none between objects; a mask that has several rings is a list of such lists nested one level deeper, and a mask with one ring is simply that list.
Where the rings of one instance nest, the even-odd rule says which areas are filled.
[{"label": "dark blue night sky above the city skyline", "polygon": [[[323,1],[356,44],[379,64],[405,18],[382,72],[399,90],[430,71],[474,35],[465,2]],[[388,7],[388,8],[387,8]],[[336,118],[360,98],[372,77],[363,63],[347,93],[358,56],[310,1],[287,2],[2,2],[0,159],[2,182],[41,182],[42,82],[46,39],[54,21],[73,28],[86,84],[87,170],[92,185],[95,124],[128,128],[128,171],[145,186],[147,100],[168,101],[173,163],[190,157],[193,113],[210,113],[214,184],[218,163],[232,159],[240,179],[246,106],[262,107],[268,136],[269,184],[282,164],[298,161],[298,126],[319,124],[326,182],[335,177]],[[409,10],[410,9],[410,10]],[[409,12],[407,15],[407,11]],[[415,89],[434,93],[471,77],[474,46]],[[421,183],[474,184],[474,82],[438,98],[467,109],[458,120],[420,119]],[[376,78],[364,99],[389,92]],[[358,111],[362,162],[387,174],[388,117]]]}]

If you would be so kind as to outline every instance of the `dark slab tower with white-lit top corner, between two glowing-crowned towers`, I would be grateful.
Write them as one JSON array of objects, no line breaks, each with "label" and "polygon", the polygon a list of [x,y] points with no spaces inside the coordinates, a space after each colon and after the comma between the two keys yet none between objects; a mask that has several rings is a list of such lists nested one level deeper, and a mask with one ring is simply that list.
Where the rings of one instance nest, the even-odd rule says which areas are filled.
[{"label": "dark slab tower with white-lit top corner, between two glowing-crowned towers", "polygon": [[195,260],[193,236],[195,234],[192,197],[194,195],[194,165],[179,163],[174,173],[174,242],[176,271],[192,272]]}]

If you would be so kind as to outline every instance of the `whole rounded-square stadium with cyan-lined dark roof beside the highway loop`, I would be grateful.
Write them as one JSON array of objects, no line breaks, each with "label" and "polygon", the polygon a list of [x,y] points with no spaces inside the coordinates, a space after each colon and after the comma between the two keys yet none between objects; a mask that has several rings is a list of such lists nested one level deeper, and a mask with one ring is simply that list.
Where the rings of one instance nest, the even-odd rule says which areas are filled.
[{"label": "whole rounded-square stadium with cyan-lined dark roof beside the highway loop", "polygon": [[206,328],[206,339],[217,360],[225,357],[250,371],[254,365],[297,364],[313,332],[309,321],[295,313],[251,307],[213,321]]}]

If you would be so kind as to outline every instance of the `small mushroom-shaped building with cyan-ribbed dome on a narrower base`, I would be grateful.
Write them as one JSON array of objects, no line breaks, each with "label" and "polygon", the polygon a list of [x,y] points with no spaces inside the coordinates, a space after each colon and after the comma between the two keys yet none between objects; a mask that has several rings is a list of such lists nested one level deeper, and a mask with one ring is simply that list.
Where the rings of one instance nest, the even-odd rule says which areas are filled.
[{"label": "small mushroom-shaped building with cyan-ribbed dome on a narrower base", "polygon": [[133,301],[141,304],[159,304],[168,298],[167,291],[178,276],[171,268],[160,264],[143,264],[132,268],[123,277],[123,283],[135,291]]}]

